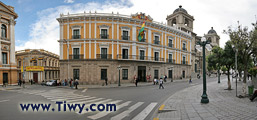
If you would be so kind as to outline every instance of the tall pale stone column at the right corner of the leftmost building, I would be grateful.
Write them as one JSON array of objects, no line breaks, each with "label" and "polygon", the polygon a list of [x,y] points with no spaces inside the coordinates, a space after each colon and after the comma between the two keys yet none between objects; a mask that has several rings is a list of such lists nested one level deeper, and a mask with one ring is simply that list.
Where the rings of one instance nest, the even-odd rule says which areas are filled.
[{"label": "tall pale stone column at the right corner of the leftmost building", "polygon": [[16,64],[16,61],[15,61],[15,36],[14,36],[14,25],[15,25],[15,21],[14,19],[12,18],[11,21],[10,21],[10,31],[11,31],[11,34],[10,34],[10,37],[11,37],[11,48],[10,48],[10,63],[11,64]]}]

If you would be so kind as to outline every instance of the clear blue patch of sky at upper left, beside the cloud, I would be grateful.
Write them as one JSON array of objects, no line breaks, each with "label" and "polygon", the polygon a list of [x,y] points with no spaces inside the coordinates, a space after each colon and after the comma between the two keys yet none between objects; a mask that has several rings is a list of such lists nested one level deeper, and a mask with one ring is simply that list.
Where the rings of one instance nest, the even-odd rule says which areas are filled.
[{"label": "clear blue patch of sky at upper left, beside the cloud", "polygon": [[[54,8],[56,6],[73,5],[76,3],[87,3],[90,0],[71,0],[72,3],[67,3],[65,0],[2,0],[6,5],[14,7],[18,14],[15,26],[16,44],[19,46],[29,39],[31,24],[38,20],[38,12]],[[102,0],[93,0],[94,2],[103,2]]]}]

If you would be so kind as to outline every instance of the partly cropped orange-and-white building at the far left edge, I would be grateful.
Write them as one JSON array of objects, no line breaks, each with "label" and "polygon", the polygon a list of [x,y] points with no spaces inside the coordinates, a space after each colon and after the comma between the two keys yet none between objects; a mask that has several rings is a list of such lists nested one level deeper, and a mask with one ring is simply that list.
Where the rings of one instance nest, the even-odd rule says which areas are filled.
[{"label": "partly cropped orange-and-white building at the far left edge", "polygon": [[14,7],[0,1],[0,85],[17,85],[17,67],[15,61],[15,19],[18,15]]}]

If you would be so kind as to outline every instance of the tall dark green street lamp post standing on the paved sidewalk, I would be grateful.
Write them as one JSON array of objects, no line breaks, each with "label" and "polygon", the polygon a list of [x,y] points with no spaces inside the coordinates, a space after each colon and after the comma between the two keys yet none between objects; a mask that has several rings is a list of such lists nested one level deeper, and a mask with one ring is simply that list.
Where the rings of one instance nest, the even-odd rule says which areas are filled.
[{"label": "tall dark green street lamp post standing on the paved sidewalk", "polygon": [[206,93],[206,68],[205,68],[205,46],[206,44],[209,44],[210,41],[206,41],[205,37],[202,37],[201,42],[199,41],[198,44],[202,46],[203,48],[203,94],[201,103],[209,103],[208,95]]}]

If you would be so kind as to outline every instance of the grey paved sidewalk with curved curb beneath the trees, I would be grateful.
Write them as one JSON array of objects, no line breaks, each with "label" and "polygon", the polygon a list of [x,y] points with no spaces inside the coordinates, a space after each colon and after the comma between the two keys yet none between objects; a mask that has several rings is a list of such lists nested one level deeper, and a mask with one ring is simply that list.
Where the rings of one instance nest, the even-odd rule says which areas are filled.
[{"label": "grey paved sidewalk with curved curb beneath the trees", "polygon": [[[200,103],[202,84],[179,91],[164,102],[154,120],[256,120],[257,100],[237,98],[235,81],[233,90],[224,90],[226,88],[227,79],[222,79],[220,84],[207,80],[208,104]],[[238,83],[238,95],[241,91],[242,81]]]}]

